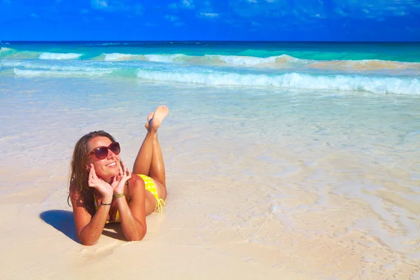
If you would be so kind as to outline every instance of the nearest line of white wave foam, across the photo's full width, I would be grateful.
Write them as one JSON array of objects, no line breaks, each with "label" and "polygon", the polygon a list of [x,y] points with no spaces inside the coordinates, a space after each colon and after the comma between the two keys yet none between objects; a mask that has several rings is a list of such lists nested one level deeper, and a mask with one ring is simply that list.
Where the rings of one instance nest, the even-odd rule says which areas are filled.
[{"label": "nearest line of white wave foam, across the photo's full width", "polygon": [[[156,57],[154,57],[156,59]],[[169,57],[166,57],[169,58]],[[157,59],[162,59],[158,57]],[[185,68],[156,65],[146,62],[80,62],[62,64],[61,62],[29,62],[3,60],[3,67],[15,69],[15,75],[25,76],[137,76],[145,80],[172,81],[179,83],[199,83],[204,85],[235,85],[255,87],[284,87],[304,90],[350,90],[379,94],[420,94],[420,79],[390,76],[363,76],[345,74],[309,73],[267,73],[244,71],[221,71],[212,67]],[[139,65],[141,68],[139,68]],[[137,71],[136,71],[137,69]],[[6,69],[4,69],[6,70]],[[29,71],[29,72],[25,72]],[[57,73],[56,73],[57,72]]]}]

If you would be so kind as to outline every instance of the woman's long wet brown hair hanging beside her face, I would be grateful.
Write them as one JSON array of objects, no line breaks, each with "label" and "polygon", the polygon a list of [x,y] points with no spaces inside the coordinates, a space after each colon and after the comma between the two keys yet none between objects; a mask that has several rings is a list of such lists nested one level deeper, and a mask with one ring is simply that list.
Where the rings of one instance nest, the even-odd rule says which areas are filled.
[{"label": "woman's long wet brown hair hanging beside her face", "polygon": [[[87,184],[87,179],[89,178],[89,172],[86,170],[87,162],[87,153],[89,149],[89,141],[95,137],[106,137],[111,142],[116,142],[111,134],[104,132],[104,130],[99,130],[95,132],[90,132],[84,135],[82,138],[77,141],[76,146],[73,150],[73,158],[71,159],[71,174],[69,178],[69,186],[72,183],[76,184],[76,192],[78,193],[78,200],[83,201],[83,207],[91,215],[94,214],[94,197],[93,189],[90,188]],[[67,202],[69,202],[69,197],[67,197]]]}]

